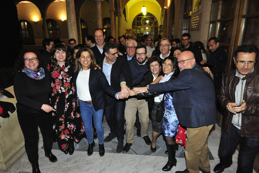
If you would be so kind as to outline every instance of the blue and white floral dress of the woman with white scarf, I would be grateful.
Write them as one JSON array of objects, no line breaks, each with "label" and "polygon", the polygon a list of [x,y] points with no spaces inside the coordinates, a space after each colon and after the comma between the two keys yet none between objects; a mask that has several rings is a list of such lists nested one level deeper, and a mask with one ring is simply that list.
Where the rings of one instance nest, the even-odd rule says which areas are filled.
[{"label": "blue and white floral dress of the woman with white scarf", "polygon": [[162,130],[163,134],[168,137],[176,136],[179,124],[172,101],[173,97],[170,93],[165,93],[165,114],[162,119]]}]

